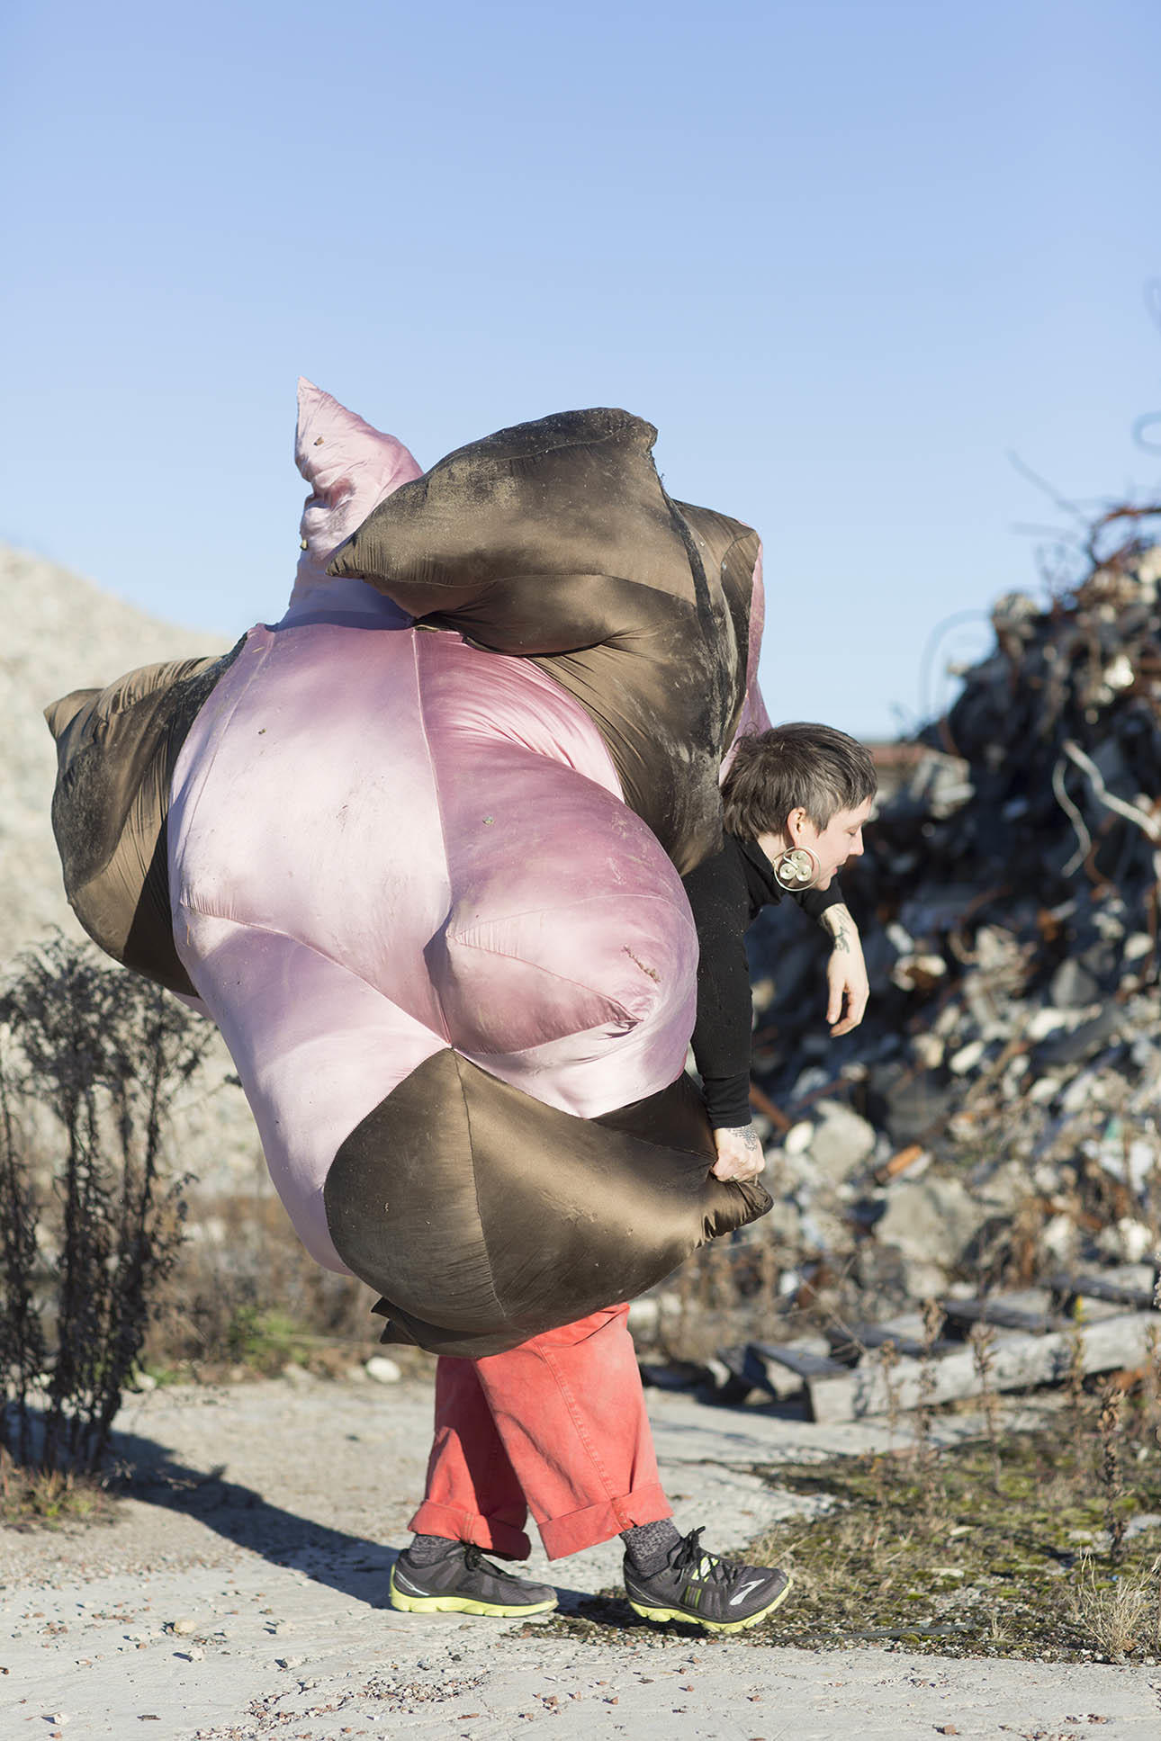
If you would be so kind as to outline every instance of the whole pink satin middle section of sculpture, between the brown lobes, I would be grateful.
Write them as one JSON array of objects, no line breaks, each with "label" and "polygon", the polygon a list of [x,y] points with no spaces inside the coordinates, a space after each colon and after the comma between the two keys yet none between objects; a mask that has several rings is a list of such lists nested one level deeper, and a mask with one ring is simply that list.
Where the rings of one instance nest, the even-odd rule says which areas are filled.
[{"label": "whole pink satin middle section of sculpture, between the brown lobes", "polygon": [[169,817],[178,951],[334,1269],[334,1153],[433,1052],[594,1116],[674,1081],[693,1027],[681,881],[585,710],[390,613],[252,630]]}]

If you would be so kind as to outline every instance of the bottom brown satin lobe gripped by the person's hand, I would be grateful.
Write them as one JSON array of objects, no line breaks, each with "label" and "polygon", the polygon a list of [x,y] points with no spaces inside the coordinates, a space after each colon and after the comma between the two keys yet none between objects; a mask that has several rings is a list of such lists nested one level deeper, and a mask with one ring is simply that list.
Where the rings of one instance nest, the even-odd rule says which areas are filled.
[{"label": "bottom brown satin lobe gripped by the person's hand", "polygon": [[708,1173],[691,1093],[675,1083],[592,1121],[454,1052],[413,1071],[339,1147],[324,1193],[339,1257],[385,1295],[385,1341],[496,1354],[642,1294],[698,1245],[764,1215],[759,1184]]}]

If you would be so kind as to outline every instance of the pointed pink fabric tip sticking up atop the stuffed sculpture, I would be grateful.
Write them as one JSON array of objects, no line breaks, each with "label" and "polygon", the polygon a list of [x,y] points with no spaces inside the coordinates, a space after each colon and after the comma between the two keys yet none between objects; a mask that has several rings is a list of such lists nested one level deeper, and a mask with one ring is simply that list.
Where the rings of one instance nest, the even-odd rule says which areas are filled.
[{"label": "pointed pink fabric tip sticking up atop the stuffed sculpture", "polygon": [[305,374],[298,378],[294,463],[310,484],[299,524],[301,555],[292,601],[332,587],[327,562],[374,507],[423,467],[395,435],[348,411]]}]

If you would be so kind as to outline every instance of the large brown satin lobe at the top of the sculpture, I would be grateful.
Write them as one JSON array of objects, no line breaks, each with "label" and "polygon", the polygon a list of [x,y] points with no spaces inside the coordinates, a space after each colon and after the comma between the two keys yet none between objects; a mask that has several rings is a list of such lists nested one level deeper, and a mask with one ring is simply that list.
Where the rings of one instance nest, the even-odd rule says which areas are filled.
[{"label": "large brown satin lobe at the top of the sculpture", "polygon": [[654,439],[611,409],[500,430],[379,503],[329,573],[534,658],[594,717],[627,804],[686,876],[721,846],[757,534],[670,501]]}]

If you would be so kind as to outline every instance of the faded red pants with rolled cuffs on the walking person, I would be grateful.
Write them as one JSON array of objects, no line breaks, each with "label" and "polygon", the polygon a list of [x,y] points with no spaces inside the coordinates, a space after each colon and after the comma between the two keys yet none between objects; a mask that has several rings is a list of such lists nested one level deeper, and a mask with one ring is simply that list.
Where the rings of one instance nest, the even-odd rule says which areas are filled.
[{"label": "faded red pants with rolled cuffs on the walking person", "polygon": [[550,1560],[672,1516],[628,1306],[435,1367],[435,1443],[411,1529],[522,1560],[529,1511]]}]

